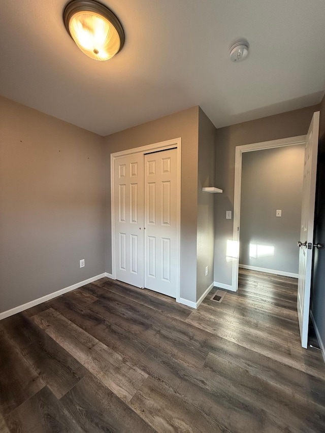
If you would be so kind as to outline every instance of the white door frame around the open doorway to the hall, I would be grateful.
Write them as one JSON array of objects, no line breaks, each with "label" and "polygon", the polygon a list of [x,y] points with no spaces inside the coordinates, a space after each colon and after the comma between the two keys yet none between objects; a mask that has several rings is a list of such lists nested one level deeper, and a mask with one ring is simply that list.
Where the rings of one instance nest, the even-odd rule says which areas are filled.
[{"label": "white door frame around the open doorway to the hall", "polygon": [[233,272],[232,272],[232,290],[238,290],[238,265],[239,265],[239,236],[240,236],[240,200],[242,187],[242,154],[244,152],[253,152],[255,150],[273,149],[276,147],[295,146],[298,144],[306,144],[307,136],[290,137],[280,140],[264,141],[262,143],[245,144],[236,146],[235,156],[235,194],[234,194],[234,227],[233,227],[233,243],[236,248],[236,253],[233,257]]}]

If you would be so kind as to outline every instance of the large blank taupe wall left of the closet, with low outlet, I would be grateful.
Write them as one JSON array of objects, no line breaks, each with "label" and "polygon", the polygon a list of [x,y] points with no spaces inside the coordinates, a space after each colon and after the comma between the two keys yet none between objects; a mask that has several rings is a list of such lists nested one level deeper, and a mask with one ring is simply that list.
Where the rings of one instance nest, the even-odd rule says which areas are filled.
[{"label": "large blank taupe wall left of the closet, with low outlet", "polygon": [[3,312],[105,272],[104,138],[4,97],[0,122]]}]

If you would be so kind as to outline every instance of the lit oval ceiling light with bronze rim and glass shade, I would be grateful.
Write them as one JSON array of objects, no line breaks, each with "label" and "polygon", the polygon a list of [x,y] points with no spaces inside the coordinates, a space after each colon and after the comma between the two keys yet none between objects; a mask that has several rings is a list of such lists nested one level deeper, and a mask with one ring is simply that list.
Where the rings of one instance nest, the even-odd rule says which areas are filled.
[{"label": "lit oval ceiling light with bronze rim and glass shade", "polygon": [[88,57],[108,60],[124,45],[124,31],[116,15],[95,0],[72,0],[63,10],[63,22]]}]

